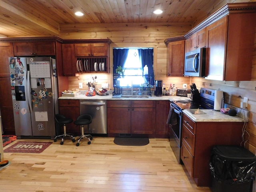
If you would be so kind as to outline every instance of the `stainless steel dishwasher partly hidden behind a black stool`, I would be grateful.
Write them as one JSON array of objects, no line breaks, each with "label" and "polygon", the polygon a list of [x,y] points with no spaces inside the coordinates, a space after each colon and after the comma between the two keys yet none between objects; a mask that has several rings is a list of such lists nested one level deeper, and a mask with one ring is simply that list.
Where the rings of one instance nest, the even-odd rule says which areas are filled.
[{"label": "stainless steel dishwasher partly hidden behind a black stool", "polygon": [[80,114],[90,114],[92,123],[84,126],[84,133],[107,136],[107,102],[106,100],[79,100]]}]

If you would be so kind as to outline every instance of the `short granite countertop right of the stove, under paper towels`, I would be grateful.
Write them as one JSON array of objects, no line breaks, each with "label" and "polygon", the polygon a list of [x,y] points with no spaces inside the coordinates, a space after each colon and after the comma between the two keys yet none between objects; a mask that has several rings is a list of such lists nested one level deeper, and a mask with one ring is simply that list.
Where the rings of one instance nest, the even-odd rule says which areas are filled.
[{"label": "short granite countertop right of the stove, under paper towels", "polygon": [[229,116],[212,109],[185,109],[182,112],[194,122],[244,122],[239,116]]}]

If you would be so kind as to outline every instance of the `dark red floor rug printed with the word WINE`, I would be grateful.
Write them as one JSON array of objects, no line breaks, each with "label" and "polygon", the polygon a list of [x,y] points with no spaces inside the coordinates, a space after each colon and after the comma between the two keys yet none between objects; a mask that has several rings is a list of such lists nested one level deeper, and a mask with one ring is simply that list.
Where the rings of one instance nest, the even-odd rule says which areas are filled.
[{"label": "dark red floor rug printed with the word WINE", "polygon": [[42,153],[52,142],[19,141],[6,148],[6,153]]}]

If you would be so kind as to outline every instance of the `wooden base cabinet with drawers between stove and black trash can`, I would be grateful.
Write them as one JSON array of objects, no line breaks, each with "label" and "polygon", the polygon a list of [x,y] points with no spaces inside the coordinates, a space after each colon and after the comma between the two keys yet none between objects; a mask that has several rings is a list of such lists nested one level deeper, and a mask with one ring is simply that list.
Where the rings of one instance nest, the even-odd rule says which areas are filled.
[{"label": "wooden base cabinet with drawers between stove and black trash can", "polygon": [[182,120],[181,160],[197,186],[211,186],[209,162],[214,145],[240,145],[243,122]]}]

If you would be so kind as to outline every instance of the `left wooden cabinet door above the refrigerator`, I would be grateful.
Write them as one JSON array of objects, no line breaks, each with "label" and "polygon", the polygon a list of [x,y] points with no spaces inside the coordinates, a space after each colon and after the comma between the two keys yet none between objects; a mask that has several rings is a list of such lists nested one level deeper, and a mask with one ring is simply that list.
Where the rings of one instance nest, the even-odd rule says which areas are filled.
[{"label": "left wooden cabinet door above the refrigerator", "polygon": [[14,42],[14,56],[33,56],[34,42]]}]

